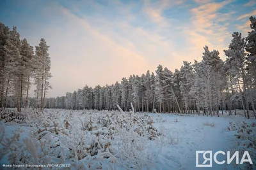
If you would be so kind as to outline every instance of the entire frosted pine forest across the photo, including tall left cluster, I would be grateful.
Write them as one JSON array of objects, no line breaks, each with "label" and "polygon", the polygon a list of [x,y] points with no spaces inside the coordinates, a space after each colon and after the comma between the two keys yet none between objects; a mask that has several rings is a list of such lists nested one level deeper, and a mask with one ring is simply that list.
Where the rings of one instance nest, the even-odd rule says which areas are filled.
[{"label": "entire frosted pine forest across the photo, including tall left cluster", "polygon": [[[65,96],[45,98],[49,85],[51,62],[49,46],[44,39],[33,47],[19,39],[16,27],[10,31],[0,25],[0,106],[20,108],[63,108],[68,110],[156,111],[158,113],[203,113],[218,115],[220,110],[249,110],[255,114],[256,103],[256,18],[250,17],[248,35],[234,32],[221,60],[218,50],[204,46],[202,61],[184,61],[180,69],[170,71],[157,66],[156,72],[131,75],[112,85],[97,85]],[[33,80],[33,82],[31,81]],[[28,97],[29,87],[35,85],[35,97]],[[84,82],[86,83],[86,82]],[[256,114],[255,114],[256,117]]]}]

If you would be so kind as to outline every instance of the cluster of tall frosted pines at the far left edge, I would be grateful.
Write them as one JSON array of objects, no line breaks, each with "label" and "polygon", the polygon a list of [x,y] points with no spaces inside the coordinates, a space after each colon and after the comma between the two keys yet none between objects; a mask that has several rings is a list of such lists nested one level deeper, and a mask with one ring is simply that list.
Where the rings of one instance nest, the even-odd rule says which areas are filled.
[{"label": "cluster of tall frosted pines at the far left edge", "polygon": [[[36,103],[42,110],[45,106],[45,95],[51,88],[51,59],[49,46],[44,38],[38,46],[29,45],[26,38],[20,39],[17,27],[12,30],[0,22],[0,110],[29,104],[28,92],[35,85]],[[33,81],[32,81],[33,80]]]}]

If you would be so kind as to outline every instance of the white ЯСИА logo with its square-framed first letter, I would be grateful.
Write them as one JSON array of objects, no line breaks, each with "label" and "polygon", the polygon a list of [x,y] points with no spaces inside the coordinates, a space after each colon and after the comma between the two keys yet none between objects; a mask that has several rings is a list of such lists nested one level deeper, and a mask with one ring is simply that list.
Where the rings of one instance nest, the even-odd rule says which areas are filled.
[{"label": "white \u042f\u0421\u0418\u0410 logo with its square-framed first letter", "polygon": [[[218,160],[217,156],[221,154],[221,155],[227,155],[227,161],[222,159],[222,160]],[[201,157],[200,157],[201,155]],[[239,162],[239,152],[236,151],[232,156],[230,155],[230,151],[227,151],[227,154],[223,151],[218,151],[215,152],[213,155],[213,160],[216,164],[225,164],[227,162],[227,164],[230,164],[234,159],[236,158],[236,164],[243,164],[244,162],[249,162],[250,164],[252,164],[252,159],[250,157],[250,154],[248,151],[244,151],[243,153],[243,157],[241,158],[240,162]],[[200,160],[204,160],[204,162],[200,161]],[[200,164],[199,162],[202,162],[202,164]],[[211,150],[197,150],[196,151],[196,167],[212,167],[212,151]]]}]

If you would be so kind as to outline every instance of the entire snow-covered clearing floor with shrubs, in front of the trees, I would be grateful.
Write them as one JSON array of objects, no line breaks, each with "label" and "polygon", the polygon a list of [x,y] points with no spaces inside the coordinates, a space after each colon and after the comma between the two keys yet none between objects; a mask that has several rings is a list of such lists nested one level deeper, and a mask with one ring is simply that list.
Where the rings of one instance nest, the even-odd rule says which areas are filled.
[{"label": "entire snow-covered clearing floor with shrubs, in front of the trees", "polygon": [[[1,115],[0,169],[12,169],[3,164],[48,166],[42,169],[49,169],[51,164],[70,169],[256,168],[256,122],[242,115],[96,110],[24,113],[20,117]],[[231,155],[239,151],[239,162],[247,150],[253,165],[218,165],[212,161],[212,167],[196,167],[196,150],[211,150],[213,154],[230,151]],[[227,160],[227,155],[220,154],[217,159]],[[203,162],[202,155],[199,162]]]}]

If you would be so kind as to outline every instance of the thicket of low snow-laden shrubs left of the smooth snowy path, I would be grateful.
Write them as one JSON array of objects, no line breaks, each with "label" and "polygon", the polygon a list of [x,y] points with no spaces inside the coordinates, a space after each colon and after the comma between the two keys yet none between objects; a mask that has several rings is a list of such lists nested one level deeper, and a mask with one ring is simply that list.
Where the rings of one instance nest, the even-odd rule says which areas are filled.
[{"label": "thicket of low snow-laden shrubs left of the smooth snowy path", "polygon": [[[22,124],[33,130],[27,133],[29,136],[19,139],[17,134],[2,138],[4,126],[1,127],[1,148],[4,149],[0,150],[0,157],[12,164],[65,163],[74,169],[111,169],[122,164],[125,169],[141,169],[150,167],[156,159],[156,155],[146,149],[150,141],[163,136],[153,126],[154,118],[144,113],[23,111]],[[7,113],[16,114],[15,111]]]}]

